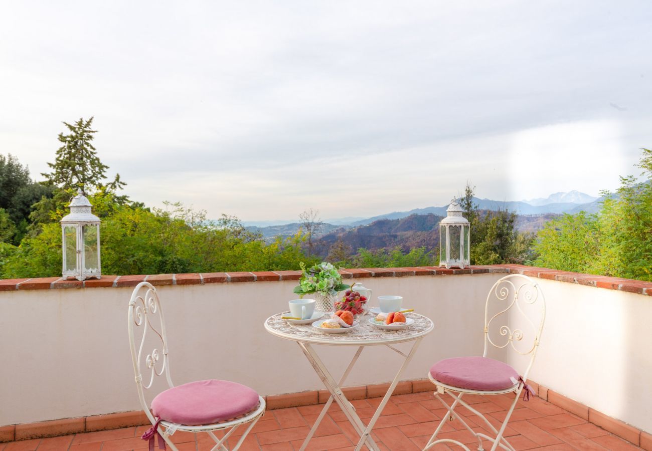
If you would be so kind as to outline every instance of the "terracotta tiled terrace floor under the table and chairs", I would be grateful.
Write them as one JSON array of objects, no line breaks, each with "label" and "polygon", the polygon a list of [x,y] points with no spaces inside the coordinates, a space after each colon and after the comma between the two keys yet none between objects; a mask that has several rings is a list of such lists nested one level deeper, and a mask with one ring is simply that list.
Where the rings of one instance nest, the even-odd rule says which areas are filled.
[{"label": "terracotta tiled terrace floor under the table and chairs", "polygon": [[[352,401],[352,403],[357,409],[357,413],[365,420],[373,415],[380,400],[381,398],[373,398]],[[469,396],[467,401],[474,403],[477,410],[488,414],[495,424],[499,423],[498,420],[505,418],[505,411],[509,405],[507,395],[486,398]],[[322,407],[323,405],[308,405],[267,411],[244,441],[241,450],[298,450]],[[460,411],[460,413],[463,412]],[[470,411],[466,411],[466,413],[469,414],[467,416],[469,425],[479,427],[478,422],[481,420],[477,417],[474,418]],[[445,415],[445,409],[430,392],[393,396],[376,423],[374,438],[379,443],[381,450],[420,450],[434,431],[436,420],[443,415]],[[147,442],[140,439],[140,435],[146,429],[147,426],[141,426],[48,439],[0,443],[0,451],[141,450],[147,448]],[[440,437],[457,439],[469,443],[469,448],[472,450],[476,449],[477,445],[473,446],[474,440],[471,438],[471,434],[460,429],[463,429],[463,426],[457,420],[447,422]],[[533,398],[528,402],[519,401],[509,426],[507,426],[505,436],[517,450],[641,449],[539,398]],[[205,433],[195,437],[192,433],[177,432],[173,435],[173,440],[179,444],[178,447],[181,451],[208,450],[212,446],[209,445],[213,443]],[[356,438],[353,428],[339,407],[333,405],[308,449],[352,450],[354,441]],[[451,448],[442,445],[435,449],[449,450]],[[460,448],[456,446],[453,449]],[[489,448],[486,447],[486,449]]]}]

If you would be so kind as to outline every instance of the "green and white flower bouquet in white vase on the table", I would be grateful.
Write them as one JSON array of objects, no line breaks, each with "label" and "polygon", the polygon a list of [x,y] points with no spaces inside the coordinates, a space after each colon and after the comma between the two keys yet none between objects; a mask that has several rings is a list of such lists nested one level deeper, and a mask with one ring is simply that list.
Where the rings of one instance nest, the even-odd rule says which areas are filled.
[{"label": "green and white flower bouquet in white vase on the table", "polygon": [[304,295],[315,295],[316,308],[322,312],[333,312],[334,303],[339,291],[350,288],[350,285],[342,284],[342,276],[337,269],[323,261],[308,269],[301,263],[301,279],[299,285],[293,290],[294,293],[303,298]]}]

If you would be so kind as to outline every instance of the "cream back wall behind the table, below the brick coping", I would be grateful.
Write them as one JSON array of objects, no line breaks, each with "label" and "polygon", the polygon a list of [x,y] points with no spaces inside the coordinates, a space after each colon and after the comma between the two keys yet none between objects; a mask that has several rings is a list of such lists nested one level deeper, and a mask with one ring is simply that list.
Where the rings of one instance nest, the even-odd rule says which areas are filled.
[{"label": "cream back wall behind the table, below the brick coping", "polygon": [[[402,295],[404,306],[435,322],[403,379],[426,377],[441,358],[482,353],[482,306],[501,275],[361,280],[376,296]],[[287,309],[295,285],[158,287],[175,384],[229,379],[263,395],[323,388],[297,344],[263,328],[269,315]],[[140,408],[126,329],[131,292],[91,288],[0,293],[0,425]],[[321,346],[318,352],[339,375],[355,348]],[[346,385],[391,381],[401,359],[385,347],[369,347]]]}]

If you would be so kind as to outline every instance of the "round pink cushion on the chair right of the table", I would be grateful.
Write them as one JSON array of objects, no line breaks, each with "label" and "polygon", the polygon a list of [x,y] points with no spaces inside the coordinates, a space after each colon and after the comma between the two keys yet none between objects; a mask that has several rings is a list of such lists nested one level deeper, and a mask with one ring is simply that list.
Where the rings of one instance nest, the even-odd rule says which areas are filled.
[{"label": "round pink cushion on the chair right of the table", "polygon": [[516,385],[518,373],[506,363],[486,357],[456,357],[439,360],[430,375],[443,384],[467,390],[505,390]]}]

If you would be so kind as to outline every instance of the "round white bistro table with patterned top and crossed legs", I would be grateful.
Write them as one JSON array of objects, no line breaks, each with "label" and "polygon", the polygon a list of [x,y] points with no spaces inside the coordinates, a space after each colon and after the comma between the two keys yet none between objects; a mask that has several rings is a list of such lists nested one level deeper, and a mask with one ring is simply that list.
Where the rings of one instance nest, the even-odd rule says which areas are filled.
[{"label": "round white bistro table with patterned top and crossed legs", "polygon": [[[305,450],[306,446],[308,446],[310,439],[312,439],[312,436],[319,427],[319,423],[321,423],[321,420],[326,415],[329,407],[331,407],[333,400],[340,405],[342,412],[346,415],[346,418],[349,420],[355,431],[360,435],[360,440],[358,441],[357,446],[355,446],[355,451],[361,450],[364,443],[366,443],[369,449],[378,451],[378,445],[374,442],[374,439],[371,436],[371,431],[374,428],[374,424],[376,424],[376,420],[378,420],[378,417],[383,411],[385,404],[389,401],[389,397],[392,396],[394,388],[396,388],[396,384],[398,383],[398,379],[403,373],[403,370],[408,366],[409,361],[412,360],[412,357],[417,351],[417,347],[419,347],[422,338],[430,333],[434,328],[432,321],[430,321],[428,317],[419,315],[418,313],[406,313],[407,317],[414,320],[413,325],[400,330],[383,330],[369,323],[369,318],[373,318],[375,315],[367,313],[366,315],[357,318],[356,321],[359,321],[360,325],[355,328],[355,330],[351,330],[351,332],[346,332],[344,334],[325,334],[312,327],[312,324],[289,324],[286,320],[281,319],[283,315],[287,314],[288,312],[278,313],[267,318],[267,321],[265,321],[265,329],[267,329],[267,332],[270,334],[297,342],[304,355],[308,358],[312,368],[314,368],[319,376],[319,379],[321,379],[331,393],[331,397],[326,402],[323,409],[321,409],[321,413],[319,413],[315,424],[312,426],[312,429],[310,429],[310,432],[308,432],[308,436],[304,440],[303,445],[301,445],[301,451]],[[406,342],[414,342],[408,353],[404,353],[393,346],[397,343]],[[333,375],[331,375],[328,368],[326,368],[325,364],[321,361],[321,358],[319,358],[312,345],[357,346],[358,349],[349,363],[349,366],[340,378],[340,381],[336,382]],[[344,385],[346,377],[353,369],[353,366],[358,360],[364,347],[379,345],[389,347],[389,349],[402,355],[405,360],[399,368],[398,373],[396,373],[396,377],[394,377],[394,380],[387,389],[387,393],[380,402],[378,409],[376,409],[374,416],[372,416],[369,423],[364,426],[360,417],[355,413],[355,407],[349,403],[346,396],[342,393],[342,385]]]}]

